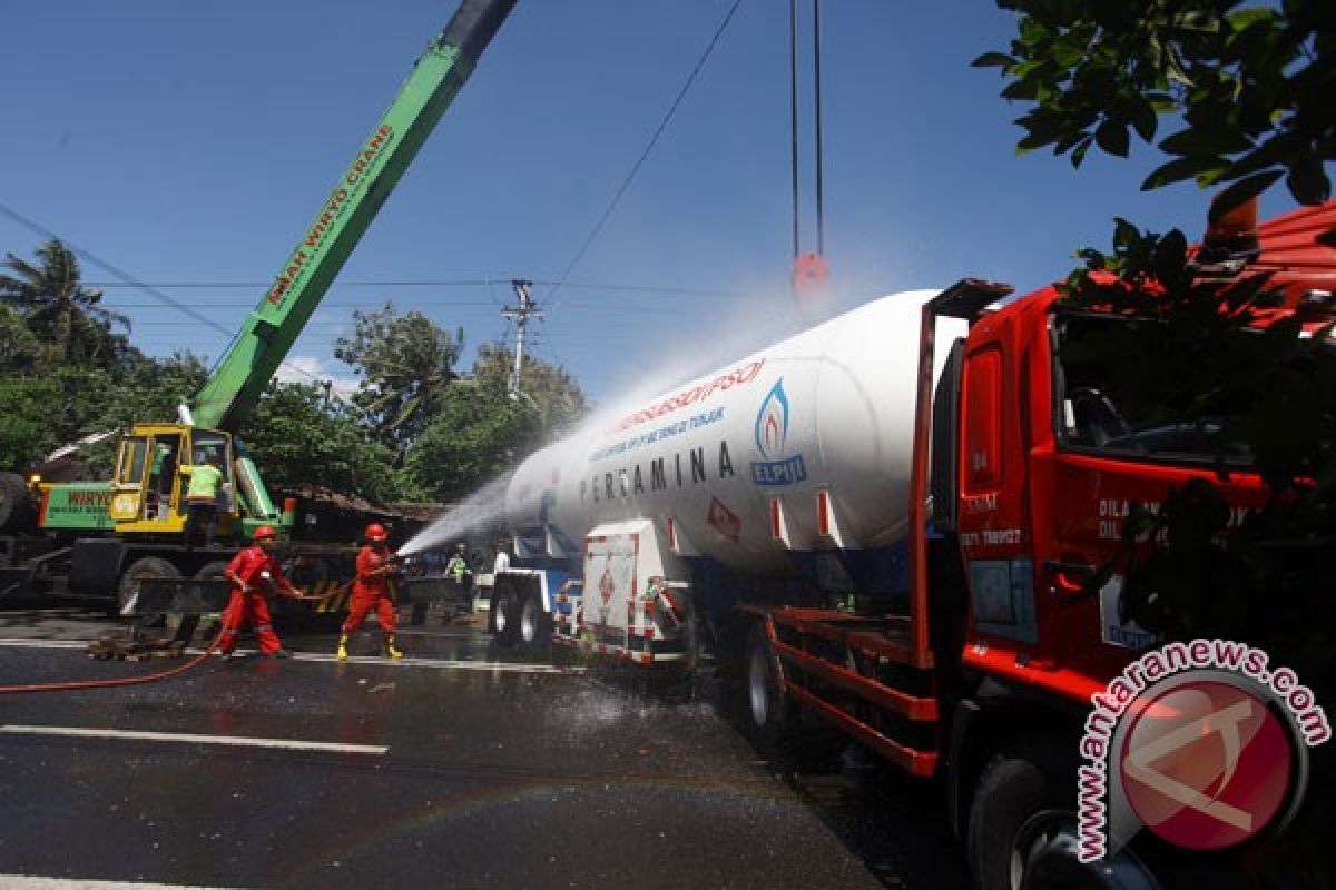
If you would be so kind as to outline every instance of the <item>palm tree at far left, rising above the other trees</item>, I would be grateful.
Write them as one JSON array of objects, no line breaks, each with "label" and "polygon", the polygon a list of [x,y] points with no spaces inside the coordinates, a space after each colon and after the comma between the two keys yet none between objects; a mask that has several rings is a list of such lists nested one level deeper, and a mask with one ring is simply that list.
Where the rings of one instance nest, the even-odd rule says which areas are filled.
[{"label": "palm tree at far left, rising above the other trees", "polygon": [[0,275],[0,300],[23,312],[53,359],[106,367],[124,351],[126,338],[112,327],[130,331],[130,319],[100,306],[102,291],[80,283],[79,259],[59,238],[37,248],[36,263],[7,256],[0,266],[15,275]]}]

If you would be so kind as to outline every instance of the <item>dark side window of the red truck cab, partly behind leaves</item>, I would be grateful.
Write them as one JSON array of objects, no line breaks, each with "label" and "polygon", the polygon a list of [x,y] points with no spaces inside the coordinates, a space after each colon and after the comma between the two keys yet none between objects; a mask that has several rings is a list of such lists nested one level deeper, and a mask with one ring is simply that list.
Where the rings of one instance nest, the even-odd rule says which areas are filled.
[{"label": "dark side window of the red truck cab, partly behind leaves", "polygon": [[1260,387],[1221,386],[1255,359],[1259,335],[1213,347],[1153,319],[1059,312],[1053,319],[1054,427],[1073,451],[1252,464],[1236,430]]}]

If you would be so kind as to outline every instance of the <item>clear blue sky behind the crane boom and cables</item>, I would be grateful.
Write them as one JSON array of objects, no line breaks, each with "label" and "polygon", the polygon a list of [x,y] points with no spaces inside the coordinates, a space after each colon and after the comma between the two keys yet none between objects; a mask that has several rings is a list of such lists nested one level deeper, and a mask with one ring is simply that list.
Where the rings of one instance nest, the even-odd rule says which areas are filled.
[{"label": "clear blue sky behind the crane boom and cables", "polygon": [[[561,276],[731,5],[520,0],[291,364],[350,376],[333,340],[355,307],[386,299],[462,327],[470,354],[508,336],[504,282]],[[0,203],[235,328],[454,7],[15,0],[0,53]],[[1081,171],[1047,152],[1015,156],[1010,121],[1023,107],[998,97],[995,69],[969,67],[1014,33],[993,4],[822,11],[826,311],[965,276],[1034,290],[1070,268],[1073,250],[1108,246],[1114,216],[1200,235],[1205,195],[1192,184],[1138,191],[1154,149],[1092,153]],[[810,111],[808,99],[804,155]],[[788,3],[743,0],[569,283],[534,288],[546,307],[536,355],[607,402],[645,374],[669,388],[802,326],[790,189]],[[1283,193],[1263,204],[1289,207]],[[804,231],[814,250],[810,212]],[[0,252],[31,256],[41,240],[0,217]],[[110,280],[92,266],[86,278]],[[432,280],[501,283],[389,284]],[[223,283],[255,284],[168,287]],[[212,360],[226,344],[148,294],[107,294],[151,354]]]}]

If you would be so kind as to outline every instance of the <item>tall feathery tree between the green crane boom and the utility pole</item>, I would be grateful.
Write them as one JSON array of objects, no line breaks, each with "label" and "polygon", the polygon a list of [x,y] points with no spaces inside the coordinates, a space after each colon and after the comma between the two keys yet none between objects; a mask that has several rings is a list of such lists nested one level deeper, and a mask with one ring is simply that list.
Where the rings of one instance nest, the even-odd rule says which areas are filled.
[{"label": "tall feathery tree between the green crane boom and the utility pole", "polygon": [[450,332],[421,312],[398,315],[393,303],[353,314],[351,338],[334,355],[362,378],[353,402],[386,444],[402,448],[430,423],[464,348],[464,331]]}]

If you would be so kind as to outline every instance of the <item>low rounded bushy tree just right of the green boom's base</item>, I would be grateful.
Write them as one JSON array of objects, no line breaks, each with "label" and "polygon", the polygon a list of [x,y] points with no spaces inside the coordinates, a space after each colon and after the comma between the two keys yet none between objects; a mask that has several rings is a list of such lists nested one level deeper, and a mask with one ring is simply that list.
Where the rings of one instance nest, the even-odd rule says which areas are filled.
[{"label": "low rounded bushy tree just right of the green boom's base", "polygon": [[398,495],[393,454],[323,387],[270,384],[242,438],[271,488],[329,488],[375,503]]}]

